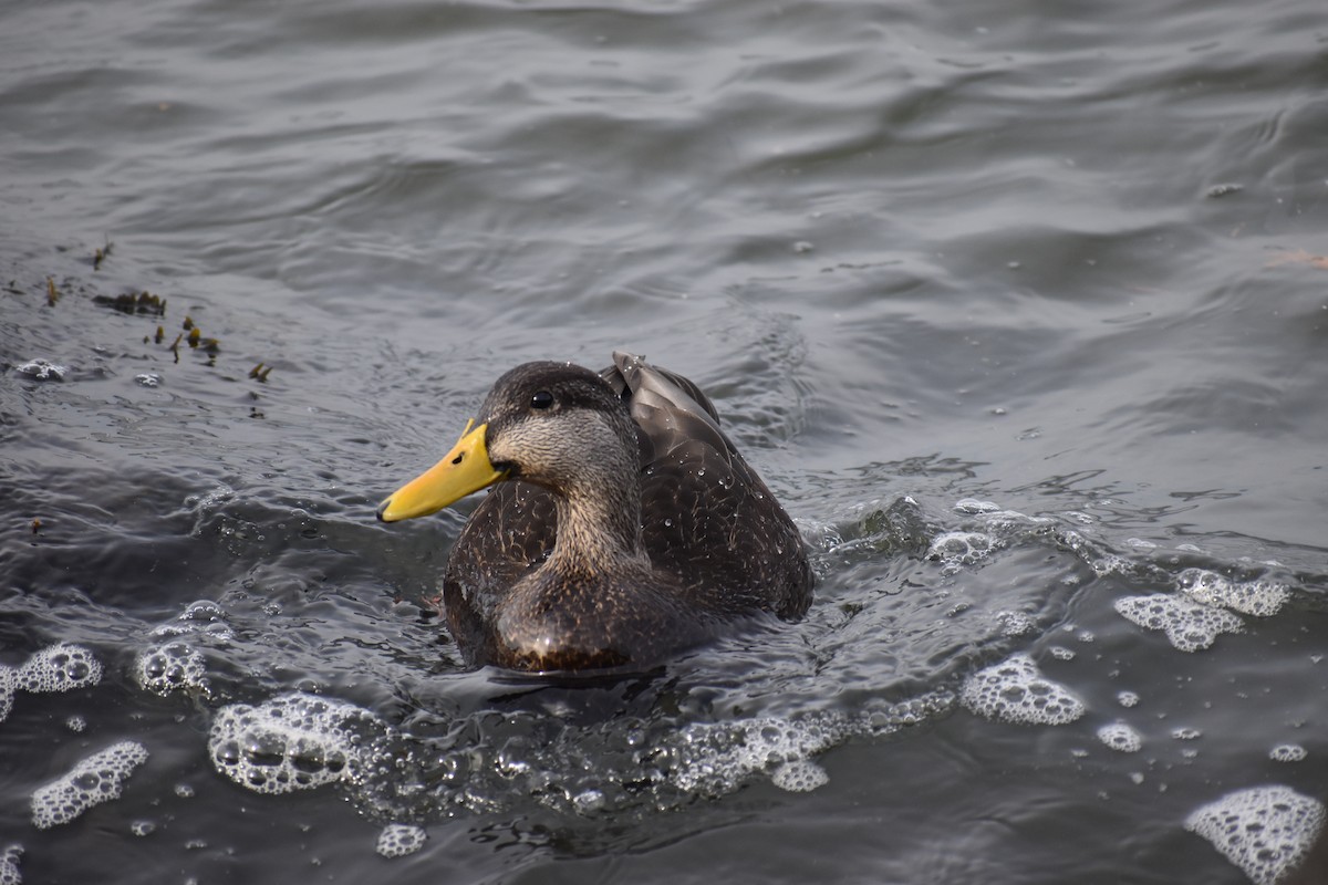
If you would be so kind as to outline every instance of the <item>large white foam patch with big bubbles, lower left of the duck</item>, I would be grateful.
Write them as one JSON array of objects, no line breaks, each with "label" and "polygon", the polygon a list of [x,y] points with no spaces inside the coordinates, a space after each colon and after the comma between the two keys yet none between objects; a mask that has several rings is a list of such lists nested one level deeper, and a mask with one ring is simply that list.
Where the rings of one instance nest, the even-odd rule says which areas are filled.
[{"label": "large white foam patch with big bubbles, lower left of the duck", "polygon": [[351,778],[364,764],[365,738],[385,732],[368,710],[293,693],[256,707],[222,707],[207,750],[216,770],[235,783],[284,793]]}]

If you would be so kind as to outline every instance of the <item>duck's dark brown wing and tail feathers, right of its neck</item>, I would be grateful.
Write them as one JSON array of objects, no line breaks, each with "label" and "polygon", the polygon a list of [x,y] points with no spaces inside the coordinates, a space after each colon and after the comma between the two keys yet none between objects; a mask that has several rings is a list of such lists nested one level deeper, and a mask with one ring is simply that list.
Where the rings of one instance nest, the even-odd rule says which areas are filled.
[{"label": "duck's dark brown wing and tail feathers, right of its neck", "polygon": [[717,614],[801,616],[811,569],[797,527],[720,430],[692,381],[615,353],[602,373],[628,401],[641,450],[641,536],[656,569]]}]

